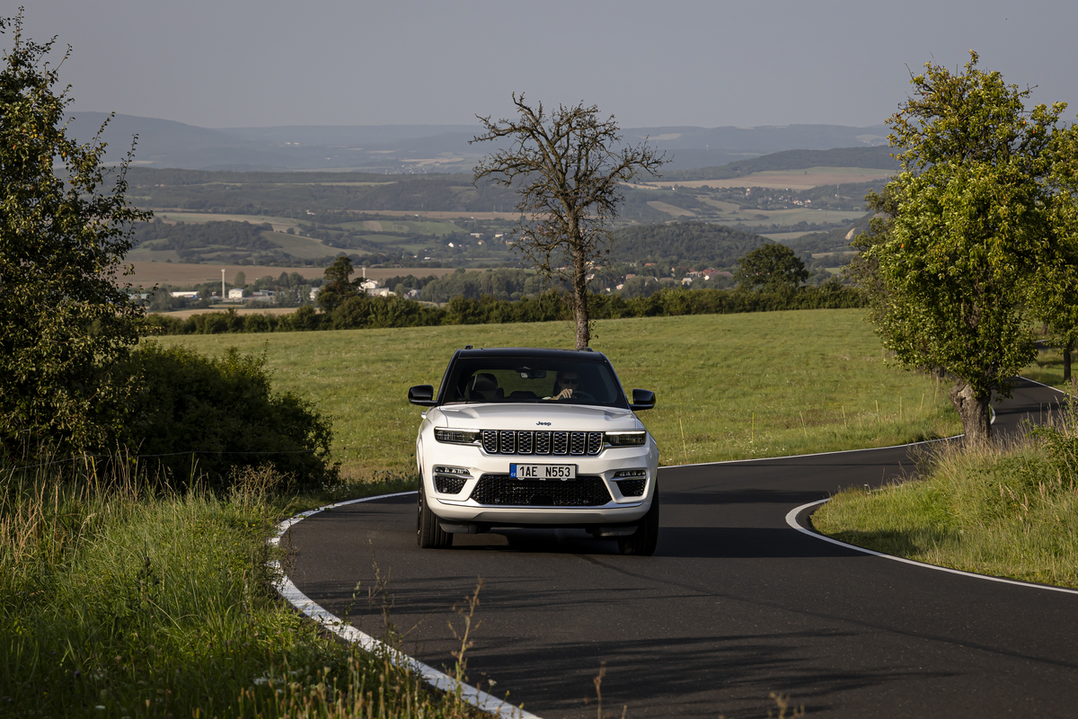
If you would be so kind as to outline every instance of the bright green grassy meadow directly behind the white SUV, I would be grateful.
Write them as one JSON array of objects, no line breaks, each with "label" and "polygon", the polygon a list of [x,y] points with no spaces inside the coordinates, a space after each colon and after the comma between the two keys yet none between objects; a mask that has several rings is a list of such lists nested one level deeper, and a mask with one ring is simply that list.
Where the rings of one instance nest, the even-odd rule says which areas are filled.
[{"label": "bright green grassy meadow directly behind the white SUV", "polygon": [[[571,346],[568,322],[162,337],[220,352],[265,352],[275,386],[334,421],[346,473],[412,471],[420,410],[411,385],[438,385],[453,350]],[[626,389],[653,389],[641,418],[662,464],[883,446],[958,429],[946,388],[885,364],[861,310],[634,318],[597,323]]]}]

